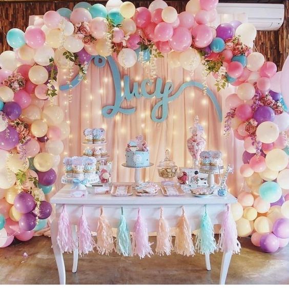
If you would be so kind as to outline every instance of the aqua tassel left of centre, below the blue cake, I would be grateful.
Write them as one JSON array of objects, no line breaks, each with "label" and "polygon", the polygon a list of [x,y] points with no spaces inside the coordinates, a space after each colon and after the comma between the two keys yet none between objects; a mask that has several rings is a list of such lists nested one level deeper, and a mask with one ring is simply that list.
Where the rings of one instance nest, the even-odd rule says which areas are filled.
[{"label": "aqua tassel left of centre, below the blue cake", "polygon": [[132,255],[131,235],[125,215],[123,215],[123,207],[121,207],[121,216],[116,234],[116,252],[123,256]]}]

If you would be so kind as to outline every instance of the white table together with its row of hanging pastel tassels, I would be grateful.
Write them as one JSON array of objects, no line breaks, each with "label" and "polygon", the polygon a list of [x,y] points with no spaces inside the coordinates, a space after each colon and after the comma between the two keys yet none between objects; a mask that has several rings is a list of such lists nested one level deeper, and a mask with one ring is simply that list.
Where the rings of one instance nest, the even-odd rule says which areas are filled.
[{"label": "white table together with its row of hanging pastel tassels", "polygon": [[[225,283],[231,256],[240,252],[236,224],[230,213],[230,204],[237,201],[235,197],[230,194],[225,197],[216,194],[195,197],[190,193],[166,197],[156,183],[143,184],[141,189],[155,194],[155,187],[159,187],[156,188],[157,195],[142,197],[136,195],[135,188],[124,188],[131,183],[114,185],[120,187],[119,197],[94,193],[75,197],[71,195],[71,186],[65,185],[51,198],[51,203],[56,204],[51,240],[60,284],[66,282],[63,253],[73,252],[72,272],[76,272],[78,254],[87,254],[94,247],[101,255],[116,251],[140,259],[172,252],[184,256],[200,253],[205,255],[207,270],[211,270],[210,254],[219,250],[223,252],[220,284]],[[132,196],[124,195],[131,194],[131,191]],[[170,191],[168,187],[166,191]],[[116,189],[114,193],[117,193]],[[214,224],[221,224],[218,243],[214,239]],[[176,227],[175,237],[171,235],[171,227]],[[112,228],[117,228],[116,239]],[[191,233],[195,230],[194,242]],[[96,241],[91,231],[96,232]],[[151,232],[157,232],[155,251],[149,242],[148,233]]]}]

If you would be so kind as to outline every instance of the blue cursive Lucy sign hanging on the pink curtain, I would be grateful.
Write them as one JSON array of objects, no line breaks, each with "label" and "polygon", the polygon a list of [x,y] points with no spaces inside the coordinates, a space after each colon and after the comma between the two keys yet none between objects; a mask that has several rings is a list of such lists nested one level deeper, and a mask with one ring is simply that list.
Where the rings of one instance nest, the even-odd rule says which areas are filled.
[{"label": "blue cursive Lucy sign hanging on the pink curtain", "polygon": [[[120,79],[120,73],[119,69],[115,63],[115,61],[112,59],[111,56],[108,56],[107,59],[102,56],[93,56],[91,60],[94,59],[94,64],[101,68],[104,67],[107,60],[112,72],[112,77],[114,81],[114,88],[115,88],[115,101],[114,105],[108,105],[102,108],[102,114],[104,117],[111,118],[114,117],[118,112],[130,115],[135,112],[136,108],[121,108],[121,103],[123,100],[132,100],[134,97],[139,99],[141,97],[144,98],[157,98],[159,101],[156,103],[156,105],[153,107],[151,112],[151,118],[154,122],[162,122],[167,119],[168,117],[168,111],[169,111],[169,103],[173,100],[177,99],[179,95],[182,93],[182,91],[187,87],[197,87],[199,89],[203,89],[203,85],[199,82],[195,81],[189,81],[183,83],[178,90],[173,93],[174,91],[174,84],[171,81],[168,81],[164,84],[162,83],[161,78],[156,79],[155,83],[155,91],[151,94],[147,92],[147,86],[150,86],[153,84],[153,82],[150,79],[144,79],[140,84],[140,92],[139,92],[139,83],[134,82],[133,83],[133,89],[131,91],[130,89],[130,78],[128,75],[125,75],[123,77],[123,95],[121,95],[121,79]],[[65,91],[69,90],[76,85],[78,85],[81,82],[81,78],[79,79],[78,75],[71,81],[71,85],[62,85],[60,86],[60,90]],[[214,95],[214,93],[207,88],[207,94],[210,97],[211,101],[213,102],[216,112],[218,114],[218,119],[221,122],[222,121],[222,111],[220,108],[220,105]],[[161,109],[161,118],[157,118],[158,109]]]}]

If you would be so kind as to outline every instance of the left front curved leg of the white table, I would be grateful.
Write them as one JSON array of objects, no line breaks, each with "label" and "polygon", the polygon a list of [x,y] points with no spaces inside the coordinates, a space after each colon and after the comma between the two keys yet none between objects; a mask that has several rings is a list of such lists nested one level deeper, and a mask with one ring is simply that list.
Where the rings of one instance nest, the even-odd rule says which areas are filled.
[{"label": "left front curved leg of the white table", "polygon": [[63,285],[65,284],[65,265],[63,254],[61,253],[60,248],[57,244],[57,234],[58,234],[58,221],[56,218],[54,218],[51,223],[51,242],[58,269],[59,283]]}]

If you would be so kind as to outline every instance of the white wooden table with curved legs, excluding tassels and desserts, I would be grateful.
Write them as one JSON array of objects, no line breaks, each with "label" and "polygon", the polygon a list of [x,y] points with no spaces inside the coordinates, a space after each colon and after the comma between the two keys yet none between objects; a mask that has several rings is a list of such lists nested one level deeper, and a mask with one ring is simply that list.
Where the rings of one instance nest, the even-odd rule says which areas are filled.
[{"label": "white wooden table with curved legs, excluding tassels and desserts", "polygon": [[[119,183],[120,184],[120,183]],[[128,183],[121,183],[128,184]],[[146,220],[148,232],[156,232],[160,217],[160,207],[163,207],[163,216],[171,227],[175,227],[181,216],[183,206],[185,215],[192,227],[192,231],[200,226],[201,215],[204,212],[204,205],[207,204],[207,211],[213,224],[221,224],[223,212],[226,204],[237,202],[232,195],[219,197],[212,195],[210,197],[195,197],[192,194],[183,196],[163,196],[160,192],[156,196],[142,197],[135,194],[129,197],[114,197],[111,195],[88,194],[82,198],[73,198],[70,196],[71,185],[66,185],[60,189],[52,198],[51,203],[56,204],[56,215],[51,223],[51,241],[53,252],[58,268],[59,282],[65,284],[66,272],[63,254],[60,252],[57,244],[58,218],[66,204],[66,210],[72,225],[73,237],[76,240],[76,225],[81,217],[82,206],[85,206],[85,214],[91,231],[96,231],[97,219],[100,215],[100,207],[104,209],[104,214],[108,218],[111,227],[116,228],[123,207],[130,231],[133,231],[134,223],[137,218],[137,209],[141,208],[142,218]],[[228,273],[232,253],[223,253],[219,283],[224,284]],[[193,260],[193,259],[192,259]],[[73,251],[72,272],[77,271],[78,249]],[[140,260],[141,261],[141,260]],[[207,270],[211,270],[210,254],[205,255],[205,265]]]}]

